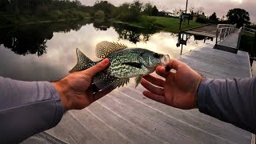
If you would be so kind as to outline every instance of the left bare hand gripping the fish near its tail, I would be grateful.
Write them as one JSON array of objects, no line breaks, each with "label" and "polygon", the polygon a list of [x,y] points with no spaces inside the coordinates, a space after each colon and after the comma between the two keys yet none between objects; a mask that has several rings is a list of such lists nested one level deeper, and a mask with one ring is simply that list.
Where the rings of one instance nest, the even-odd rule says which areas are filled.
[{"label": "left bare hand gripping the fish near its tail", "polygon": [[105,70],[109,66],[109,63],[109,59],[106,58],[87,70],[74,72],[58,82],[52,82],[60,94],[65,110],[83,109],[113,90],[102,90],[97,94],[93,94],[91,89],[91,82],[94,75]]}]

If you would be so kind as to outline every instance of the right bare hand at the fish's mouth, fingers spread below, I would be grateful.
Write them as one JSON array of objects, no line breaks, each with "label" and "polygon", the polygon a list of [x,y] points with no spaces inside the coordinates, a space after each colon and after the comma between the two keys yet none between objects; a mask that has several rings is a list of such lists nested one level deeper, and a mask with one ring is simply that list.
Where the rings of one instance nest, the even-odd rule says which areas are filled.
[{"label": "right bare hand at the fish's mouth, fingers spread below", "polygon": [[142,79],[142,86],[147,89],[143,94],[154,101],[179,109],[197,108],[197,90],[202,76],[176,59],[171,59],[167,67],[176,72],[166,71],[165,67],[158,66],[156,73],[165,79],[152,75],[146,75]]}]

